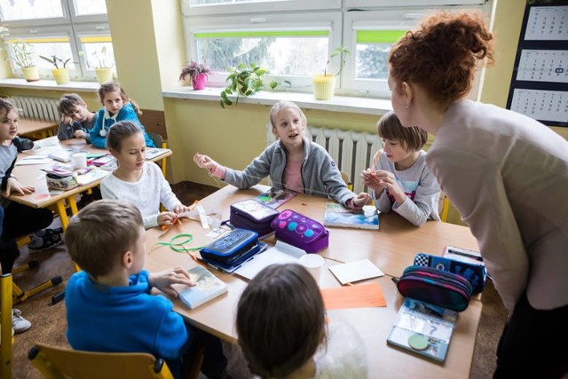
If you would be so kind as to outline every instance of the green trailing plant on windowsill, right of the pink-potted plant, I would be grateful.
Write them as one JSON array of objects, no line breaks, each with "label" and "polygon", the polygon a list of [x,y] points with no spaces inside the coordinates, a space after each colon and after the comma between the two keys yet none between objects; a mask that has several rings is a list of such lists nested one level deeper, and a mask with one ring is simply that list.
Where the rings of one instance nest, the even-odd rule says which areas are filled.
[{"label": "green trailing plant on windowsill, right of the pink-potted plant", "polygon": [[[233,100],[229,99],[229,96],[236,95],[234,104],[239,104],[239,97],[254,95],[257,91],[260,91],[264,87],[263,77],[269,73],[268,70],[261,66],[257,66],[256,63],[251,63],[246,65],[241,63],[237,67],[230,67],[228,70],[229,75],[227,76],[227,87],[221,92],[221,107],[232,106]],[[270,88],[273,90],[278,85],[290,86],[288,81],[276,82],[271,81],[269,83]]]}]

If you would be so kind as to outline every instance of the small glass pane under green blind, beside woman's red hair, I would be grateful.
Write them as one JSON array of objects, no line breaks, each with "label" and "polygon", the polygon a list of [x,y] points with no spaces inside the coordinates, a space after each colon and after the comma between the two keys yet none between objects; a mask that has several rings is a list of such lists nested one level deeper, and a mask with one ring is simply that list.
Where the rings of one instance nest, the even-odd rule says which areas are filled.
[{"label": "small glass pane under green blind, beside woman's red hair", "polygon": [[355,77],[358,79],[388,79],[389,51],[392,43],[358,43]]}]

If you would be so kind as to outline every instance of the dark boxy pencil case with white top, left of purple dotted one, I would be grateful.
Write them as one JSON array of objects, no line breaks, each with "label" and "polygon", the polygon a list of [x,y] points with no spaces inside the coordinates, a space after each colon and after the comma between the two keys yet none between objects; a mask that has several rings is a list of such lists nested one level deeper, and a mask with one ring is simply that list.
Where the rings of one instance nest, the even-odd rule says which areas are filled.
[{"label": "dark boxy pencil case with white top, left of purple dotted one", "polygon": [[279,211],[254,199],[231,204],[229,221],[234,227],[255,231],[260,236],[274,232],[271,222]]}]

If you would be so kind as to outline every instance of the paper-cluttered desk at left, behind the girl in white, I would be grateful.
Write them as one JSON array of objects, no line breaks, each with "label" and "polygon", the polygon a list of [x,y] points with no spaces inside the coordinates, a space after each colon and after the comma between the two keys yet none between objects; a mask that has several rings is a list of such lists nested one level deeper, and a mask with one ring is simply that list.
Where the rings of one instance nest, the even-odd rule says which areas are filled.
[{"label": "paper-cluttered desk at left, behind the girl in white", "polygon": [[[88,153],[95,153],[95,154],[108,153],[106,149],[99,149],[98,147],[89,145],[85,142],[84,139],[79,139],[79,138],[67,139],[66,141],[59,142],[57,137],[50,137],[50,138],[41,139],[40,141],[35,141],[35,144],[39,144],[41,147],[34,148],[32,150],[26,150],[18,154],[18,159],[20,160],[22,157],[28,155],[36,155],[36,154],[48,155],[51,152],[56,150],[61,150],[62,148],[64,149],[73,148],[76,150],[87,151]],[[171,154],[172,153],[170,151],[166,154],[159,155],[150,161],[155,162],[161,160],[164,156],[170,156]],[[53,162],[44,163],[44,164],[15,166],[14,170],[12,170],[12,175],[18,178],[18,180],[22,184],[25,184],[27,186],[37,186],[37,180],[39,178],[38,175],[39,170],[51,168],[52,165]],[[66,201],[67,204],[69,205],[69,208],[71,209],[71,214],[72,215],[77,214],[78,209],[75,203],[75,195],[77,193],[83,193],[84,191],[87,191],[90,188],[99,186],[101,180],[102,179],[96,180],[86,186],[76,186],[75,188],[72,188],[65,192],[51,191],[50,195],[43,199],[38,199],[36,193],[29,193],[26,195],[21,195],[20,193],[17,194],[12,193],[8,197],[8,199],[20,202],[20,204],[24,204],[32,208],[47,208],[54,205],[61,219],[61,225],[65,229],[69,224],[69,218],[67,217],[67,210],[66,210]],[[5,197],[5,193],[3,193],[3,195]]]}]

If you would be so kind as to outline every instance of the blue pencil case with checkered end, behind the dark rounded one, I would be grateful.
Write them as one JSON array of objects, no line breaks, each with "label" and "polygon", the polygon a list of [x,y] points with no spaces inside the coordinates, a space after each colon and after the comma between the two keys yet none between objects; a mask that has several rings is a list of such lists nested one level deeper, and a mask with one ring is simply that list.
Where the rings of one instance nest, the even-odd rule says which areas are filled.
[{"label": "blue pencil case with checkered end, behind the dark rounded one", "polygon": [[483,288],[485,288],[487,272],[485,271],[484,265],[474,265],[424,253],[416,254],[416,257],[414,257],[414,265],[435,267],[438,270],[456,273],[469,280],[474,294],[480,293],[483,291]]}]

